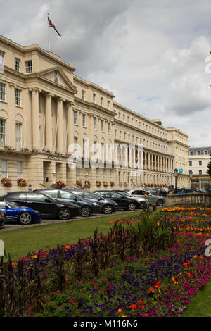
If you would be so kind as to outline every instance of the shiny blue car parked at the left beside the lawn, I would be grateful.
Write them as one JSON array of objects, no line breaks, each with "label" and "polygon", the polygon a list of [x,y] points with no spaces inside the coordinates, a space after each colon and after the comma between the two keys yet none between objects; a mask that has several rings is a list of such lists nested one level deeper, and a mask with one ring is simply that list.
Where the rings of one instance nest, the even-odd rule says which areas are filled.
[{"label": "shiny blue car parked at the left beside the lawn", "polygon": [[15,202],[0,201],[0,209],[6,211],[8,222],[27,225],[30,223],[41,223],[41,213],[32,208],[21,207]]}]

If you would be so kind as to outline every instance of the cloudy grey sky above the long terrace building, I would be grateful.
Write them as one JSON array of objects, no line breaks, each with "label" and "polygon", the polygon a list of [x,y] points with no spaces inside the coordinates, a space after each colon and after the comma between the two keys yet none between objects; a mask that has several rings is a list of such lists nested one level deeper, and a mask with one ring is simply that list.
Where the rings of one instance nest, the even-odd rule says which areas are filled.
[{"label": "cloudy grey sky above the long terrace building", "polygon": [[0,34],[48,49],[146,118],[211,146],[210,0],[0,0]]}]

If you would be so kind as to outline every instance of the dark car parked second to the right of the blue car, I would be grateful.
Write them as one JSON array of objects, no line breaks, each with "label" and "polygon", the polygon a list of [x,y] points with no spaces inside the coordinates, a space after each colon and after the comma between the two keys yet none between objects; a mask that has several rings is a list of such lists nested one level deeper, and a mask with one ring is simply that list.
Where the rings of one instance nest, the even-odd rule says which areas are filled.
[{"label": "dark car parked second to the right of the blue car", "polygon": [[[80,206],[81,215],[84,217],[90,216],[91,214],[100,213],[101,206],[98,202],[91,202],[89,200],[82,199],[75,193],[65,189],[41,189],[39,192],[51,196],[56,201],[68,201],[70,203],[77,204]],[[76,191],[75,191],[76,192]]]}]

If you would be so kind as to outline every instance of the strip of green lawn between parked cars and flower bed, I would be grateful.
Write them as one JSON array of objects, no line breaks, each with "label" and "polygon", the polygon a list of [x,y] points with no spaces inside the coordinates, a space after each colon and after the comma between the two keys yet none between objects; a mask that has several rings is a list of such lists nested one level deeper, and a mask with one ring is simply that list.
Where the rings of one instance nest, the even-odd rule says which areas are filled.
[{"label": "strip of green lawn between parked cars and flower bed", "polygon": [[12,260],[26,256],[39,251],[39,249],[52,249],[57,244],[72,244],[77,242],[78,238],[87,238],[94,235],[94,230],[107,233],[112,223],[110,220],[134,216],[140,213],[124,213],[121,215],[113,214],[111,216],[98,218],[84,218],[83,220],[74,220],[71,223],[61,223],[55,225],[46,225],[41,227],[31,227],[23,230],[0,232],[0,239],[4,241],[6,251],[6,260],[8,253]]}]

